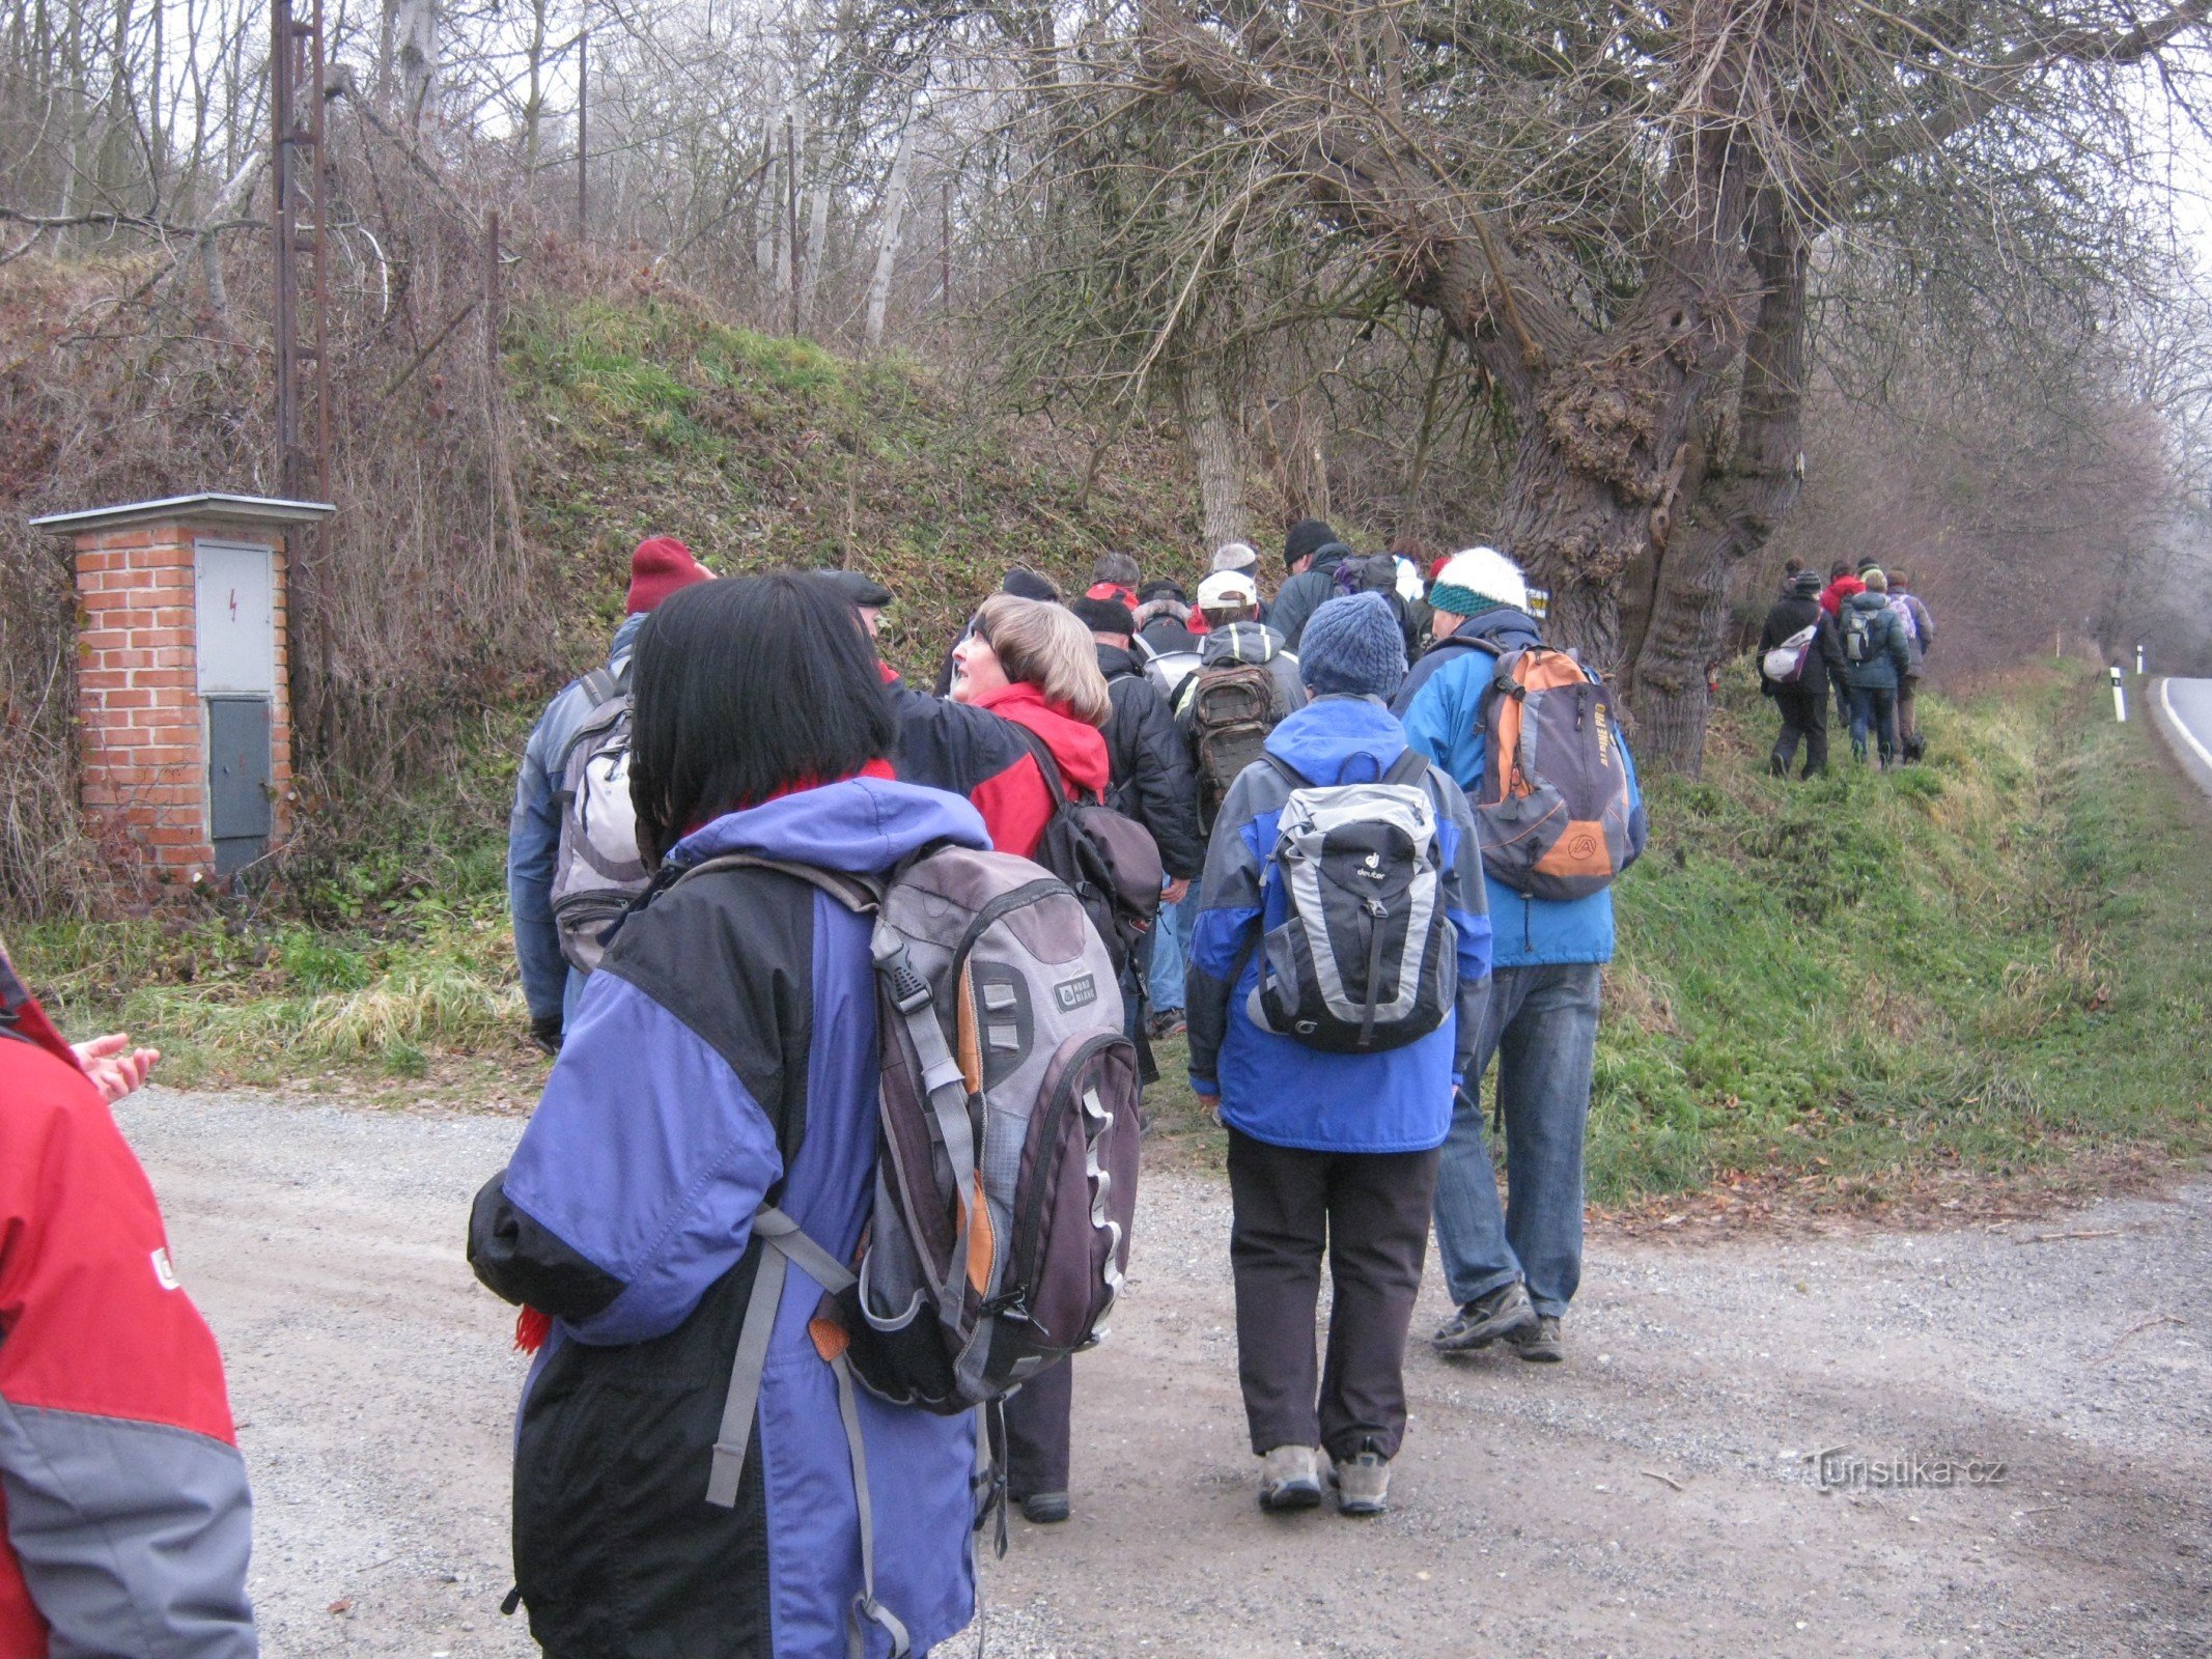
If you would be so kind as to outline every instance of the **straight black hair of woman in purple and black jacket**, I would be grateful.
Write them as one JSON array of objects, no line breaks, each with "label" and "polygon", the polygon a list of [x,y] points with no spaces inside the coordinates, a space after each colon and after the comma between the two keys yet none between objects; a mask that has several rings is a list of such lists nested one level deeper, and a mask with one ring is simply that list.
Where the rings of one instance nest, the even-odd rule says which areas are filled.
[{"label": "straight black hair of woman in purple and black jacket", "polygon": [[650,865],[708,818],[852,776],[898,734],[852,606],[792,571],[661,602],[637,635],[630,699],[630,803]]}]

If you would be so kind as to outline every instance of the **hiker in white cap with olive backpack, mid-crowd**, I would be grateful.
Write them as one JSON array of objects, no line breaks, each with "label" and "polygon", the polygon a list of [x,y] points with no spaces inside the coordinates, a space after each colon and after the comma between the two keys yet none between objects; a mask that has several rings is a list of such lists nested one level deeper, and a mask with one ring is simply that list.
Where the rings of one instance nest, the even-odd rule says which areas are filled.
[{"label": "hiker in white cap with olive backpack, mid-crowd", "polygon": [[[1194,761],[1201,832],[1212,832],[1221,801],[1261,757],[1267,732],[1305,708],[1298,659],[1283,648],[1283,635],[1259,619],[1259,584],[1241,566],[1214,571],[1199,584],[1206,641],[1177,679],[1172,701],[1177,732]],[[1183,971],[1197,916],[1197,887],[1183,894],[1183,902],[1159,907],[1150,973],[1155,1035],[1183,1029]]]}]

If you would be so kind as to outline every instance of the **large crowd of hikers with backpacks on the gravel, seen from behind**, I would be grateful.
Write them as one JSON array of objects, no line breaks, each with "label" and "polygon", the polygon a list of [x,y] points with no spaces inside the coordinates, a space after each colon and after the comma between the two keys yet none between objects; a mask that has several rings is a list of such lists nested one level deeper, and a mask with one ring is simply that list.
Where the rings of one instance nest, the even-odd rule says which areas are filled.
[{"label": "large crowd of hikers with backpacks on the gravel, seen from behind", "polygon": [[1241,542],[1190,588],[1013,568],[922,690],[874,577],[637,546],[520,772],[557,1060],[469,1228],[538,1354],[515,1595],[549,1652],[960,1630],[971,1520],[1071,1515],[1068,1356],[1121,1287],[1175,1035],[1228,1130],[1263,1509],[1385,1511],[1431,1221],[1433,1345],[1564,1356],[1646,834],[1610,692],[1493,549],[1425,573],[1303,520],[1281,560],[1272,602]]}]

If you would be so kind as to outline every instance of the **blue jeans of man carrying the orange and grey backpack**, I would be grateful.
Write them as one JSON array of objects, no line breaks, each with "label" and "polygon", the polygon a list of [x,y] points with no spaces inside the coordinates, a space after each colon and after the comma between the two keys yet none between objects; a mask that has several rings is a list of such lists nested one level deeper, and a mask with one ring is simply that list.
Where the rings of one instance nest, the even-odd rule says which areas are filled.
[{"label": "blue jeans of man carrying the orange and grey backpack", "polygon": [[[1540,1314],[1582,1283],[1582,1135],[1597,1048],[1597,962],[1498,969],[1467,1093],[1436,1172],[1436,1245],[1453,1303],[1515,1279]],[[1506,1203],[1482,1144],[1482,1073],[1498,1055],[1506,1115]]]}]

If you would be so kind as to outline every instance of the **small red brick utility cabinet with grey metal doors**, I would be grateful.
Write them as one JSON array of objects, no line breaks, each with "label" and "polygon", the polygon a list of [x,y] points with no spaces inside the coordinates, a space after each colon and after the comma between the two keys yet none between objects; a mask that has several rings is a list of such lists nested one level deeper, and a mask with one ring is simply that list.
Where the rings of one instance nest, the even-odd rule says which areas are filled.
[{"label": "small red brick utility cabinet with grey metal doors", "polygon": [[84,814],[139,874],[228,880],[290,827],[285,533],[332,511],[170,495],[31,520],[75,544]]}]

